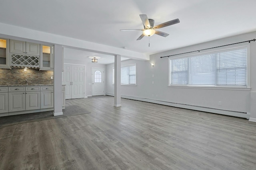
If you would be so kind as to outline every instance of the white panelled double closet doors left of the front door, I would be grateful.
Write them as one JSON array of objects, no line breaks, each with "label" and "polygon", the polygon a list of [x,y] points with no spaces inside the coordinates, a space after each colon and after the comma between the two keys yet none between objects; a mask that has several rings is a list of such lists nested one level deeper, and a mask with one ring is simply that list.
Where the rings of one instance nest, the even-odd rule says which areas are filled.
[{"label": "white panelled double closet doors left of the front door", "polygon": [[84,98],[84,66],[64,64],[62,84],[66,85],[65,99]]}]

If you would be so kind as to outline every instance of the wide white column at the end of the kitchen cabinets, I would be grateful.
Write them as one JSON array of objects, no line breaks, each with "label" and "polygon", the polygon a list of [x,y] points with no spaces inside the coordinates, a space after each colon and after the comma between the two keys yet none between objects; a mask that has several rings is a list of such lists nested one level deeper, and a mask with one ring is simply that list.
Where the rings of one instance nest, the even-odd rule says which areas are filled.
[{"label": "wide white column at the end of the kitchen cabinets", "polygon": [[54,116],[62,112],[62,46],[54,45]]}]

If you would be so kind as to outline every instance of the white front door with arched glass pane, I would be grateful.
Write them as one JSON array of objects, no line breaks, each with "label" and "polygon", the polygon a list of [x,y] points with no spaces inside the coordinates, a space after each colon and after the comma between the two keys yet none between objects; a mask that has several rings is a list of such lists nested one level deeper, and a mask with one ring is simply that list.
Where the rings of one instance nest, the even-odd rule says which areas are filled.
[{"label": "white front door with arched glass pane", "polygon": [[92,96],[104,95],[104,68],[92,68]]}]

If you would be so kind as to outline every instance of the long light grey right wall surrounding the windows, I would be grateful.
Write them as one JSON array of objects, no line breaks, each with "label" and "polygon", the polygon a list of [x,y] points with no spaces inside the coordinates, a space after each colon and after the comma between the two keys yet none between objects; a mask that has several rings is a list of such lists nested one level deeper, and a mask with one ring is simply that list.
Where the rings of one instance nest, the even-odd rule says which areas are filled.
[{"label": "long light grey right wall surrounding the windows", "polygon": [[[168,57],[160,59],[166,55],[174,55],[189,51],[227,45],[256,38],[256,32],[224,38],[208,43],[202,43],[180,49],[174,49],[162,53],[150,55],[150,61],[128,60],[122,61],[123,65],[137,64],[137,86],[121,86],[121,95],[133,96],[161,100],[178,104],[193,106],[210,107],[229,111],[239,111],[251,113],[252,118],[256,118],[256,110],[251,111],[251,92],[256,91],[256,41],[250,43],[250,87],[248,90],[223,90],[213,88],[181,88],[168,87]],[[151,66],[150,63],[154,63]],[[107,65],[107,93],[113,94],[112,67],[114,64]],[[154,78],[152,77],[154,74]],[[154,84],[152,84],[154,81]],[[254,99],[255,100],[255,99]],[[222,102],[219,106],[218,102]]]}]

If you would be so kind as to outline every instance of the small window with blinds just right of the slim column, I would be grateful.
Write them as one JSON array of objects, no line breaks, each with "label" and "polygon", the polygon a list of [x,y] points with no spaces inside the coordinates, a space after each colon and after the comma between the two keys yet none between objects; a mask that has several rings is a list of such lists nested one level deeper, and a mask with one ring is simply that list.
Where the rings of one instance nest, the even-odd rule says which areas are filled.
[{"label": "small window with blinds just right of the slim column", "polygon": [[136,64],[121,67],[121,84],[136,85]]}]

